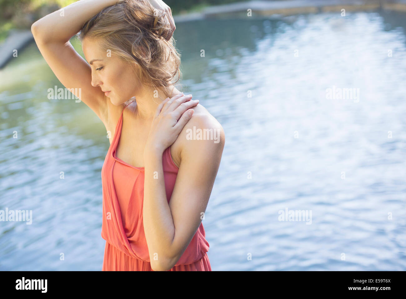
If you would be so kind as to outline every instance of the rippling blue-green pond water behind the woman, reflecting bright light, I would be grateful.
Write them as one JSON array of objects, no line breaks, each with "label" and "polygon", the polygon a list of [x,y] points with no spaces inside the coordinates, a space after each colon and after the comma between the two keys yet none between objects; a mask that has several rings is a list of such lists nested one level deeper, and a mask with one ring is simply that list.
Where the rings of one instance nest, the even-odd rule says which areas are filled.
[{"label": "rippling blue-green pond water behind the woman, reflecting bright light", "polygon": [[[226,135],[203,220],[212,269],[406,270],[404,15],[176,28],[185,91]],[[1,223],[0,270],[101,270],[102,122],[84,103],[47,99],[62,85],[35,44],[0,74],[0,210],[33,215]],[[286,209],[311,224],[279,221]]]}]

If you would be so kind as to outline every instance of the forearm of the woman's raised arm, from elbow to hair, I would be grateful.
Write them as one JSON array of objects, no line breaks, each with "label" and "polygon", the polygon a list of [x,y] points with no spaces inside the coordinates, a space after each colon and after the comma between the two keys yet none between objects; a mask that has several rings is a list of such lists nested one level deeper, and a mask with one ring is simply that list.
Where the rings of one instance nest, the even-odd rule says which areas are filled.
[{"label": "forearm of the woman's raised arm, from elbow to hair", "polygon": [[35,39],[43,42],[60,41],[66,43],[82,29],[84,22],[117,0],[79,0],[67,7],[45,15],[32,24]]}]

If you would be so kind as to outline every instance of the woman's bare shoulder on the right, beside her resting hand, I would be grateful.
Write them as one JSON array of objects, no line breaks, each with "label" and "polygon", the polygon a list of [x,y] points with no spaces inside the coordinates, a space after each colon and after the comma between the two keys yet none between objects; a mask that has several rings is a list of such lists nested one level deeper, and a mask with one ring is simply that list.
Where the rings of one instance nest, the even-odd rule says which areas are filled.
[{"label": "woman's bare shoulder on the right, beside her resting hand", "polygon": [[[205,144],[205,149],[221,154],[224,147],[225,133],[220,122],[201,104],[193,107],[193,110],[192,118],[185,124],[173,143],[173,159],[177,165],[181,163],[182,152],[193,152],[196,148],[202,149]],[[212,142],[206,142],[207,140]]]}]

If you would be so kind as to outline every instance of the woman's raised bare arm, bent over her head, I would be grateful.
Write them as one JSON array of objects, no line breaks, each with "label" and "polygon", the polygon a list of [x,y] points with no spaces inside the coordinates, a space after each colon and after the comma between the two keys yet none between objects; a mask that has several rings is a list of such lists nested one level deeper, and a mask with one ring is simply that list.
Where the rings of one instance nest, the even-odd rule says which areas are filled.
[{"label": "woman's raised bare arm, bent over her head", "polygon": [[91,66],[76,52],[69,40],[93,15],[120,1],[80,0],[45,15],[31,26],[38,49],[52,72],[104,124],[108,121],[107,98],[100,87],[91,85]]}]

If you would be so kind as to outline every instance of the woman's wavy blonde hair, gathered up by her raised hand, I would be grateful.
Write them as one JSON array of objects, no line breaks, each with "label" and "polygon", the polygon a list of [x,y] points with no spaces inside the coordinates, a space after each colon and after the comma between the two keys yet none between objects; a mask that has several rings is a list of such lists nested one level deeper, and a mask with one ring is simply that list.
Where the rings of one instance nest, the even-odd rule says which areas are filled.
[{"label": "woman's wavy blonde hair, gathered up by her raised hand", "polygon": [[[138,79],[152,87],[177,83],[182,76],[180,57],[173,36],[166,37],[171,26],[164,11],[155,10],[148,0],[123,0],[102,9],[82,26],[80,42],[91,38],[100,41],[104,51],[136,66]],[[172,81],[178,74],[177,80]]]}]

